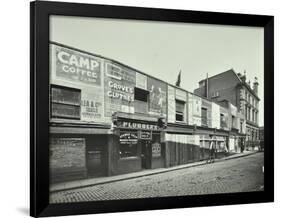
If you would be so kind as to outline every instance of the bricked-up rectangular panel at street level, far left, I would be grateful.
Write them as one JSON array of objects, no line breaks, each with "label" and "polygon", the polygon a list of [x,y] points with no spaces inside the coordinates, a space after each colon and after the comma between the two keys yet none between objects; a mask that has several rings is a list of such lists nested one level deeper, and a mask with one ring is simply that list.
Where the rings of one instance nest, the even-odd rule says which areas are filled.
[{"label": "bricked-up rectangular panel at street level, far left", "polygon": [[51,138],[50,169],[85,167],[84,138]]}]

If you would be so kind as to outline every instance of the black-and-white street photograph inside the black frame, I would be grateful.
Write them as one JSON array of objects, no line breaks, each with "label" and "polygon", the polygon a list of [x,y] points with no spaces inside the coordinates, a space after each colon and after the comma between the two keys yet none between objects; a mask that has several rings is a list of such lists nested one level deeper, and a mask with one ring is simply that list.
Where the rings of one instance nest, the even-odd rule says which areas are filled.
[{"label": "black-and-white street photograph inside the black frame", "polygon": [[49,29],[51,204],[264,190],[264,28]]}]

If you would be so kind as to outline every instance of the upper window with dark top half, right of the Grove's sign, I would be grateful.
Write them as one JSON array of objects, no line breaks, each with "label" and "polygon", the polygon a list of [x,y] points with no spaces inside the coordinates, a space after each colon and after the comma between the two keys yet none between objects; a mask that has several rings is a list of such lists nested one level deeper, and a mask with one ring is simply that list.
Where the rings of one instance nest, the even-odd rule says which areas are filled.
[{"label": "upper window with dark top half, right of the Grove's sign", "polygon": [[148,94],[147,90],[135,87],[134,104],[136,113],[148,113]]}]

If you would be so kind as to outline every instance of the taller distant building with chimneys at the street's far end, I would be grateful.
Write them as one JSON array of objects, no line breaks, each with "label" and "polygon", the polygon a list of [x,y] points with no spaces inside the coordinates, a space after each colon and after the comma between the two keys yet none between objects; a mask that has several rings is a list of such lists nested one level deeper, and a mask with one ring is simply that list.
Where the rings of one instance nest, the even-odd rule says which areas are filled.
[{"label": "taller distant building with chimneys at the street's far end", "polygon": [[[259,139],[259,97],[258,81],[255,78],[253,86],[246,82],[246,73],[236,74],[233,69],[219,73],[199,82],[199,88],[194,93],[219,104],[228,101],[237,107],[238,112],[246,120],[246,146],[254,146]],[[240,121],[240,125],[242,121]]]}]

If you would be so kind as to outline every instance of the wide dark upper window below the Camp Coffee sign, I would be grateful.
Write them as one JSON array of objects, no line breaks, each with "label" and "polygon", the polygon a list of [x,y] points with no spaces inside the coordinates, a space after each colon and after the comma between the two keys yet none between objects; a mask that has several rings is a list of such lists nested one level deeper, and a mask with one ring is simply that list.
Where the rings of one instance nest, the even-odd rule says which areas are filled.
[{"label": "wide dark upper window below the Camp Coffee sign", "polygon": [[80,119],[81,91],[63,86],[51,86],[51,117]]}]

